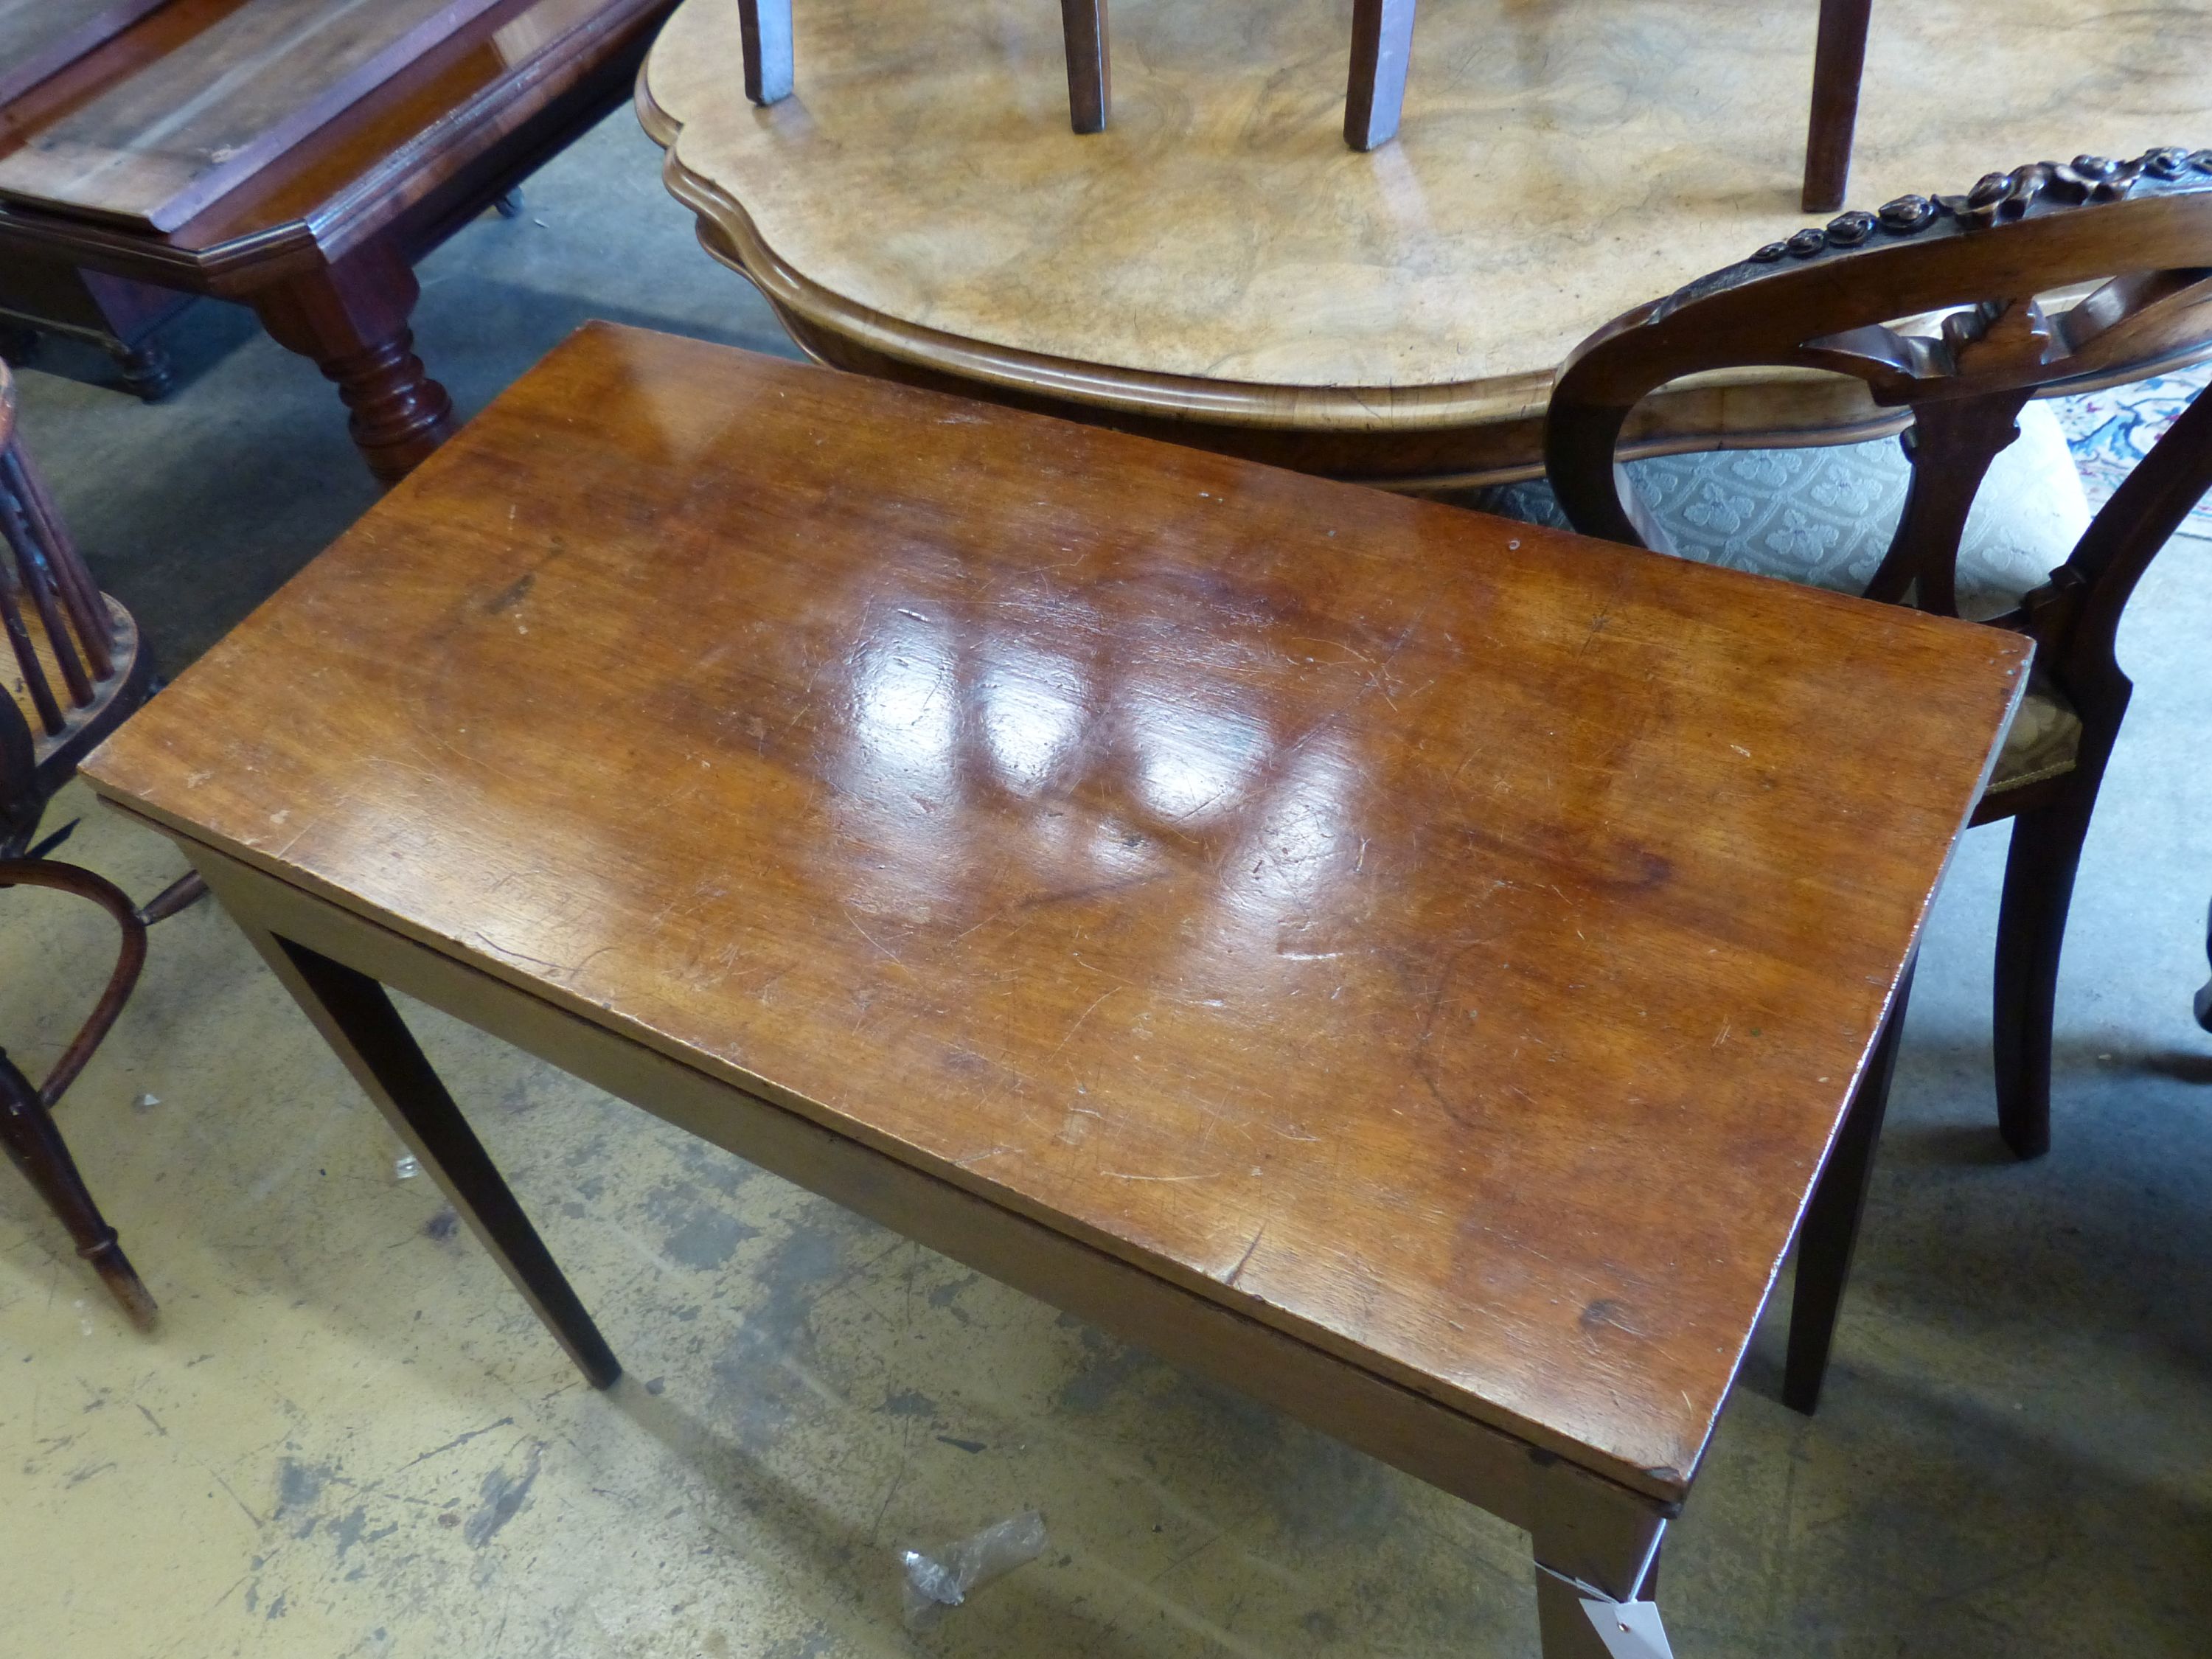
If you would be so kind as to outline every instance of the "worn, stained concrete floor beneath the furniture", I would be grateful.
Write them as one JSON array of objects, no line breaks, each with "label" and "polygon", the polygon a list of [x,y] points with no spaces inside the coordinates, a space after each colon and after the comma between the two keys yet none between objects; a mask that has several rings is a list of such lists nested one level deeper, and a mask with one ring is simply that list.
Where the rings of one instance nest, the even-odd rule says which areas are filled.
[{"label": "worn, stained concrete floor beneath the furniture", "polygon": [[[425,268],[462,411],[584,316],[790,349],[617,113]],[[102,582],[177,668],[372,489],[314,374],[201,307],[146,409],[29,372]],[[2057,1144],[1991,1128],[2002,827],[1927,942],[1820,1416],[1761,1334],[1666,1604],[1683,1659],[2212,1650],[2212,542],[2152,571],[2075,898]],[[179,869],[73,787],[69,856]],[[4,896],[42,1068],[102,922]],[[416,1011],[420,1013],[420,1011]],[[422,1013],[630,1367],[586,1389],[210,907],[155,933],[62,1124],[164,1327],[0,1177],[0,1655],[1531,1655],[1524,1540]],[[157,1104],[144,1104],[153,1097]],[[914,1637],[894,1551],[1026,1506],[1042,1559]]]}]

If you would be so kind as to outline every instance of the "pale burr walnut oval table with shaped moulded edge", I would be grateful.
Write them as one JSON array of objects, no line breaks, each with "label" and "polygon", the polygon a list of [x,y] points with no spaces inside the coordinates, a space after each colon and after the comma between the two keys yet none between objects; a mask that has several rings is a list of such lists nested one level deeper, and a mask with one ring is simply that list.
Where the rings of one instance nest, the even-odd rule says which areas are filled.
[{"label": "pale burr walnut oval table with shaped moulded edge", "polygon": [[[1066,119],[1037,0],[799,0],[805,73],[743,93],[737,0],[639,80],[706,248],[818,358],[1398,489],[1540,471],[1568,349],[1798,212],[1814,7],[1422,9],[1398,142],[1343,142],[1338,0],[1117,0],[1115,119]],[[2212,13],[1933,0],[1869,44],[1854,204],[2212,126]],[[1652,400],[1652,449],[1891,431],[1856,385]]]}]

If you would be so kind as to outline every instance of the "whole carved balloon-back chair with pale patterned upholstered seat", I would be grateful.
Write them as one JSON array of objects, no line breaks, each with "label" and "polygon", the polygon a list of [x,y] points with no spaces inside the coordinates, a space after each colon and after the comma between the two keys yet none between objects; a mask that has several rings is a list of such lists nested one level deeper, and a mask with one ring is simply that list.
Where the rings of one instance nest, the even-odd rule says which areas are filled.
[{"label": "whole carved balloon-back chair with pale patterned upholstered seat", "polygon": [[[1966,195],[1898,197],[1801,230],[1601,327],[1551,400],[1548,480],[1584,533],[2035,637],[2033,684],[1975,810],[1975,823],[2013,818],[1995,1062],[2000,1126],[2022,1157],[2048,1148],[2066,907],[2132,690],[2115,630],[2212,484],[2212,400],[2199,396],[2090,520],[2033,400],[2208,349],[2212,150],[2157,148],[1991,173]],[[1876,405],[1911,411],[1902,453],[1885,440],[1849,462],[1801,449],[1617,465],[1646,394],[1752,365],[1865,380]],[[1880,478],[1856,498],[1829,480],[1823,507],[1820,469],[1845,465]],[[1517,489],[1520,502],[1504,491],[1493,504],[1542,520],[1544,502]],[[1885,491],[1893,531],[1871,500]],[[1849,546],[1814,533],[1823,513]]]}]

